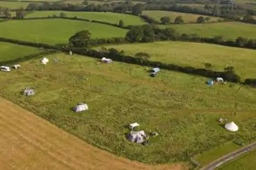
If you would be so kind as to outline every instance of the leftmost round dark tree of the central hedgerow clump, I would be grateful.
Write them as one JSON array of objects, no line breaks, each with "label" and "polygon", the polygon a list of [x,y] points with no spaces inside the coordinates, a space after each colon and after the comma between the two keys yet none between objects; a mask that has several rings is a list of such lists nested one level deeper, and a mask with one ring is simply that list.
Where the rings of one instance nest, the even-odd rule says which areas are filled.
[{"label": "leftmost round dark tree of the central hedgerow clump", "polygon": [[140,42],[143,39],[143,28],[141,26],[133,26],[126,34],[126,39],[129,42]]}]

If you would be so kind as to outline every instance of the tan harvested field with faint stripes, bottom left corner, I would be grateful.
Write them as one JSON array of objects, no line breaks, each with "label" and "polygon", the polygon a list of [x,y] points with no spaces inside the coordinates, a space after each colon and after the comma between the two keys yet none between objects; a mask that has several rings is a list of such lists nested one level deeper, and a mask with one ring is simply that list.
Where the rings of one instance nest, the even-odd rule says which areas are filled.
[{"label": "tan harvested field with faint stripes, bottom left corner", "polygon": [[118,158],[0,98],[0,169],[186,169]]}]

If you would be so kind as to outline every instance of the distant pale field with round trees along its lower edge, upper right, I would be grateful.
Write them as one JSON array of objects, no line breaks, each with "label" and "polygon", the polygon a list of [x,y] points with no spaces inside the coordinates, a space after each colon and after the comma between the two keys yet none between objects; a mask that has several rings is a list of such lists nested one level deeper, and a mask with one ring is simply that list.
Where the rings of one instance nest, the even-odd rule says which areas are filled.
[{"label": "distant pale field with round trees along its lower edge, upper right", "polygon": [[[183,17],[185,22],[196,22],[196,19],[200,16],[200,14],[187,14],[182,12],[170,12],[170,11],[161,11],[161,10],[149,10],[143,11],[143,14],[160,21],[161,17],[170,17],[171,21],[174,22],[176,17],[181,16]],[[210,21],[217,21],[220,19],[219,17],[210,17]]]}]

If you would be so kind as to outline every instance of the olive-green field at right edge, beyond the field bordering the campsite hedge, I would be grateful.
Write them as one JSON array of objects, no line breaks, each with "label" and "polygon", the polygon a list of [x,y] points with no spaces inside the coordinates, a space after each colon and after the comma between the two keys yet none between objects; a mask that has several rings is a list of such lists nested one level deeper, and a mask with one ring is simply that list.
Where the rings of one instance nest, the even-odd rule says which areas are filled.
[{"label": "olive-green field at right edge, beyond the field bordering the campsite hedge", "polygon": [[[166,25],[161,25],[165,28]],[[248,39],[256,39],[256,25],[249,23],[226,22],[204,23],[187,25],[170,25],[181,34],[197,34],[203,37],[223,36],[223,39],[237,39],[241,36]],[[227,31],[229,30],[229,31]],[[241,31],[243,30],[243,31]]]}]

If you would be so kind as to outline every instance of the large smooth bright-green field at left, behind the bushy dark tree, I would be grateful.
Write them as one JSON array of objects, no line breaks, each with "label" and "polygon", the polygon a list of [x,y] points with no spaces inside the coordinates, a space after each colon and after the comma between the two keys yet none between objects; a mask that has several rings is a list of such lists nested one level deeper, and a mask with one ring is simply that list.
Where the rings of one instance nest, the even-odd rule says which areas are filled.
[{"label": "large smooth bright-green field at left, behind the bushy dark tree", "polygon": [[100,23],[67,19],[42,19],[8,21],[0,23],[2,37],[22,41],[57,44],[68,43],[70,36],[81,30],[89,30],[92,38],[125,36],[127,30]]}]

